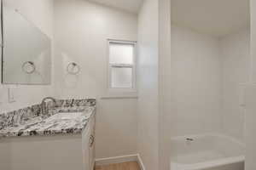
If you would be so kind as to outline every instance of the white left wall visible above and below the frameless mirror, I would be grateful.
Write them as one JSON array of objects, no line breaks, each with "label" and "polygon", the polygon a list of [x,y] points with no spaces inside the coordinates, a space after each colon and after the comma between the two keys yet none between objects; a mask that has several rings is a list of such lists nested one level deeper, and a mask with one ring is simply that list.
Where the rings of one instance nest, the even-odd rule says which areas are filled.
[{"label": "white left wall visible above and below the frameless mirror", "polygon": [[[50,38],[53,37],[53,1],[52,0],[8,0],[9,5],[18,8],[28,20],[38,26]],[[26,40],[24,40],[26,41]],[[44,96],[52,95],[52,86],[15,86],[15,103],[8,102],[8,87],[0,85],[0,113],[13,111],[27,105],[38,104]]]}]

